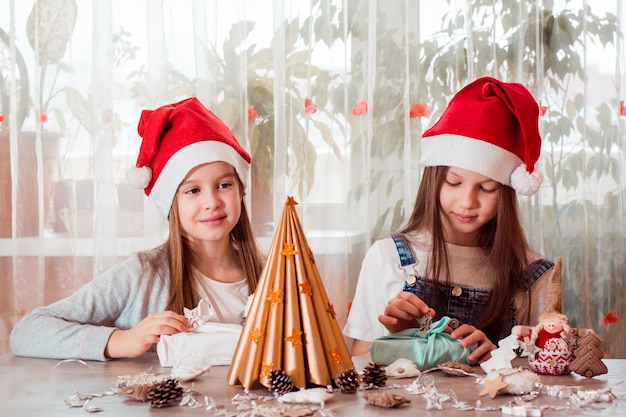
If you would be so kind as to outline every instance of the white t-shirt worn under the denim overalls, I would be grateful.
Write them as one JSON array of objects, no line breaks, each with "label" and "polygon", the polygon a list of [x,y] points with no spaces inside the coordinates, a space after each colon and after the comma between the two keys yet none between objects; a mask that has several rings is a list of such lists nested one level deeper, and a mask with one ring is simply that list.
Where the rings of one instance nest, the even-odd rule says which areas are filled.
[{"label": "white t-shirt worn under the denim overalls", "polygon": [[[378,321],[387,302],[404,286],[408,275],[425,276],[426,262],[430,255],[428,235],[409,236],[416,264],[402,267],[394,241],[384,238],[370,247],[361,266],[359,280],[343,333],[353,339],[371,342],[389,332]],[[486,273],[489,268],[484,251],[478,247],[447,244],[450,255],[451,285],[491,289]],[[531,254],[531,262],[539,255]],[[520,293],[514,300],[516,323],[533,325],[543,311],[543,292],[547,282],[544,275],[531,287],[532,308],[529,316],[528,297]],[[530,317],[532,323],[526,323]]]}]

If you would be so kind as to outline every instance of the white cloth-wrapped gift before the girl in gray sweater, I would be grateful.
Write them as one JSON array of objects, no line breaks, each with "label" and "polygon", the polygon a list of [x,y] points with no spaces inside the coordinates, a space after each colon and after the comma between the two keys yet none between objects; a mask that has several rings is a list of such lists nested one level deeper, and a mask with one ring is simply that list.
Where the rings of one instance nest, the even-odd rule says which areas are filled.
[{"label": "white cloth-wrapped gift before the girl in gray sweater", "polygon": [[174,367],[183,362],[229,365],[242,326],[208,321],[212,316],[211,305],[203,300],[200,300],[198,307],[185,309],[185,318],[191,325],[190,329],[173,335],[162,335],[157,343],[161,366]]}]

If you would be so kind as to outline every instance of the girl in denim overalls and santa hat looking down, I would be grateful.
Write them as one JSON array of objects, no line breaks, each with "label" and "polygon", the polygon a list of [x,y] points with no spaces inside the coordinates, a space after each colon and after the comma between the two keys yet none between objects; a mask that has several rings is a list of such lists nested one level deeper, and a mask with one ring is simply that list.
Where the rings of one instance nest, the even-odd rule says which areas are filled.
[{"label": "girl in denim overalls and santa hat looking down", "polygon": [[451,336],[490,357],[516,324],[543,313],[553,263],[528,245],[516,194],[532,195],[539,108],[521,84],[483,77],[461,89],[422,138],[413,212],[368,250],[344,334],[367,355],[383,335],[448,316]]}]

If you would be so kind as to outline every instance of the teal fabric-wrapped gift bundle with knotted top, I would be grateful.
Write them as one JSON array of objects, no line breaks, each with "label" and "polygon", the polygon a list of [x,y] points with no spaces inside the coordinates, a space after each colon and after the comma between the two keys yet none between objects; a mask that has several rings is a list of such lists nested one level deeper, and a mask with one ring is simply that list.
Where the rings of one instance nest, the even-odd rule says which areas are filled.
[{"label": "teal fabric-wrapped gift bundle with knotted top", "polygon": [[403,358],[415,363],[419,370],[434,368],[448,361],[469,363],[469,354],[478,347],[463,347],[461,339],[453,339],[444,333],[450,317],[444,316],[433,322],[428,330],[406,329],[382,336],[370,345],[372,361],[385,366]]}]

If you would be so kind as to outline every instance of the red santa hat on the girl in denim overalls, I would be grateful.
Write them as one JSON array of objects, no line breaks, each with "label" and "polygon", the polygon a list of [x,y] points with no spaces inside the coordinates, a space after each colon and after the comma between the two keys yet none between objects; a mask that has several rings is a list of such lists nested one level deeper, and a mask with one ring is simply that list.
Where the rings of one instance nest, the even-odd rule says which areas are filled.
[{"label": "red santa hat on the girl in denim overalls", "polygon": [[454,166],[532,195],[543,175],[539,106],[519,83],[479,78],[462,88],[422,136],[423,166]]}]

